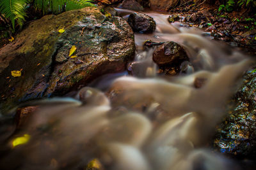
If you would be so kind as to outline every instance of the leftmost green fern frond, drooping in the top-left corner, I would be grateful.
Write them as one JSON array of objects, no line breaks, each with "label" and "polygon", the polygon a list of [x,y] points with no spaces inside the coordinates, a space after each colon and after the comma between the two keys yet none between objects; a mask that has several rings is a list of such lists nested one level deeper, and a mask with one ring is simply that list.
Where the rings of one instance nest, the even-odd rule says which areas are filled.
[{"label": "leftmost green fern frond, drooping in the top-left corner", "polygon": [[17,23],[22,26],[25,21],[26,15],[26,4],[29,3],[29,0],[1,0],[0,1],[0,13],[4,17],[10,19],[12,22],[13,29],[15,28],[15,20]]}]

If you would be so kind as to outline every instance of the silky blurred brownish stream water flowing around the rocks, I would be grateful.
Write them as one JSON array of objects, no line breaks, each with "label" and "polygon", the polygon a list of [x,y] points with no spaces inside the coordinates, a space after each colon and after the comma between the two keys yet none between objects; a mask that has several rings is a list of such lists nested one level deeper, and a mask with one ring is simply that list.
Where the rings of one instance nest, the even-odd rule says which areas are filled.
[{"label": "silky blurred brownish stream water flowing around the rocks", "polygon": [[[124,18],[133,12],[116,10]],[[209,143],[252,61],[199,29],[170,25],[168,15],[147,15],[157,29],[135,34],[136,56],[127,68],[132,76],[104,76],[73,98],[30,103],[38,111],[26,127],[0,138],[8,139],[0,150],[1,169],[83,169],[92,159],[99,160],[96,167],[116,170],[240,169]],[[154,48],[143,48],[147,39],[184,46],[189,55],[185,71],[159,76]],[[202,87],[195,88],[196,79],[204,80]],[[20,136],[28,143],[14,147],[13,139]]]}]

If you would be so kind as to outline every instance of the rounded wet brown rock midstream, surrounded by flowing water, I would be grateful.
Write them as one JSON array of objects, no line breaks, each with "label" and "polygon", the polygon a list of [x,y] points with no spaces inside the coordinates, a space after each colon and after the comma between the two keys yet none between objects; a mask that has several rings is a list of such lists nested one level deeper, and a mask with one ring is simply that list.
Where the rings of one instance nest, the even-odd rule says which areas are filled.
[{"label": "rounded wet brown rock midstream, surrounded by flowing water", "polygon": [[182,46],[173,41],[167,41],[156,48],[153,60],[158,66],[180,65],[184,60],[188,60],[188,56]]}]

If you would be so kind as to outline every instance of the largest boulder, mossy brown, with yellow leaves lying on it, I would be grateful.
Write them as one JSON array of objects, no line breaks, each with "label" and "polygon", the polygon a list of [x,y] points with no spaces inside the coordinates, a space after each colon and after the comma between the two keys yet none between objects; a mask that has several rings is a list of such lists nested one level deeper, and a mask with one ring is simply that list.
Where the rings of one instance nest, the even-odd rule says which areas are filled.
[{"label": "largest boulder, mossy brown, with yellow leaves lying on it", "polygon": [[[65,32],[58,32],[63,27]],[[72,46],[77,48],[74,58],[69,56]],[[134,48],[129,24],[97,8],[31,22],[0,49],[0,111],[30,99],[61,96],[97,76],[123,71]],[[21,76],[13,77],[11,71],[21,71]]]}]

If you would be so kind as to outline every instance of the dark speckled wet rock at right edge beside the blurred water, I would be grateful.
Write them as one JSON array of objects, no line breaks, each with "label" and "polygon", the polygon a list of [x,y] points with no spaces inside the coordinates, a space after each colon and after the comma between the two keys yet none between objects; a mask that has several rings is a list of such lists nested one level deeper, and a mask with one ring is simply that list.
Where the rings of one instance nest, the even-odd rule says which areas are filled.
[{"label": "dark speckled wet rock at right edge beside the blurred water", "polygon": [[218,125],[214,146],[242,159],[256,156],[256,73],[250,69],[229,104],[228,117]]}]

